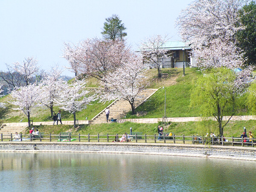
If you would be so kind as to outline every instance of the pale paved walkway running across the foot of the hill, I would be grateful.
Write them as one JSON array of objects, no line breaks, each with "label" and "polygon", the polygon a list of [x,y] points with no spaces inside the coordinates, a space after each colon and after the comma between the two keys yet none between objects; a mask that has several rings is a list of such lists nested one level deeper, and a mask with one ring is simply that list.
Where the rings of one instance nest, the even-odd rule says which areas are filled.
[{"label": "pale paved walkway running across the foot of the hill", "polygon": [[[224,116],[223,120],[229,119],[230,116]],[[211,117],[209,119],[215,120],[214,117]],[[162,118],[148,118],[148,119],[118,119],[117,121],[119,123],[122,122],[136,122],[136,123],[157,123],[159,121],[162,121]],[[167,120],[169,122],[189,122],[189,121],[201,121],[201,117],[168,117]],[[256,120],[256,116],[249,115],[249,116],[233,116],[231,121],[248,121],[248,120]],[[91,124],[91,120],[79,120],[79,124]],[[52,121],[48,122],[33,122],[33,125],[52,125]],[[73,125],[74,121],[62,121],[64,125]],[[107,122],[106,122],[107,123]],[[27,126],[27,122],[12,122],[12,123],[3,123],[6,126]]]}]

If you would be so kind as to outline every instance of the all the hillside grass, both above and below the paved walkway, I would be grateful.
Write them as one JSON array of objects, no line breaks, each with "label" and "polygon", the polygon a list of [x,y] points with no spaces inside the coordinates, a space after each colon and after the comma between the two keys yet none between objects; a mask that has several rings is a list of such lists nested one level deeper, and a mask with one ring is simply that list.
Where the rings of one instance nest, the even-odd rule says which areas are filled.
[{"label": "all the hillside grass, both above and below the paved walkway", "polygon": [[[195,68],[185,69],[185,76],[183,77],[182,69],[163,69],[163,77],[161,79],[157,78],[157,70],[151,69],[147,71],[148,81],[151,82],[148,88],[161,88],[157,91],[147,102],[140,105],[136,110],[136,115],[131,115],[128,113],[126,118],[159,118],[164,115],[164,99],[166,90],[166,115],[168,117],[185,117],[185,116],[200,116],[194,108],[190,108],[190,91],[192,88],[192,83],[195,79],[201,76]],[[87,87],[98,87],[99,81],[96,79],[89,79]],[[20,111],[14,111],[11,104],[8,103],[10,96],[4,96],[0,98],[0,102],[7,103],[6,109],[0,110],[0,119],[2,122],[23,122],[27,121],[26,116]],[[81,112],[77,113],[77,119],[84,120],[86,117],[92,119],[97,113],[102,111],[111,102],[98,103],[97,101],[92,102],[91,105],[87,106]],[[57,112],[58,107],[54,108]],[[31,119],[36,121],[51,121],[50,111],[48,108],[35,108],[31,111]],[[249,115],[249,112],[244,107],[244,110],[238,112],[236,115]],[[63,111],[63,120],[73,120],[73,115]],[[233,121],[227,124],[224,128],[224,135],[226,137],[239,137],[245,126],[249,131],[256,131],[256,121]],[[60,132],[71,131],[74,134],[123,134],[129,132],[130,127],[133,128],[135,132],[143,132],[143,134],[154,135],[157,134],[157,124],[137,124],[131,122],[125,123],[111,123],[111,124],[101,124],[101,125],[81,125],[79,128],[72,128],[71,125],[54,125],[54,126],[36,126],[41,132],[46,134],[59,134]],[[207,125],[209,129],[218,133],[216,122],[210,122]],[[170,125],[164,128],[165,132],[174,132],[176,135],[193,135],[193,134],[206,134],[206,130],[202,130],[198,125],[198,122],[171,122]]]}]

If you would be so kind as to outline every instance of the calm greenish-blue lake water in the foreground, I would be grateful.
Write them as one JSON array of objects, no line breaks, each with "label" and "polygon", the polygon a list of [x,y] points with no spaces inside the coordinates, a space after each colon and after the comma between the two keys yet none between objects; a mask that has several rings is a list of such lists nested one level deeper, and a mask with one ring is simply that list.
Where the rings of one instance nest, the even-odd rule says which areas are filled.
[{"label": "calm greenish-blue lake water in the foreground", "polygon": [[256,162],[136,154],[0,153],[0,191],[256,191]]}]

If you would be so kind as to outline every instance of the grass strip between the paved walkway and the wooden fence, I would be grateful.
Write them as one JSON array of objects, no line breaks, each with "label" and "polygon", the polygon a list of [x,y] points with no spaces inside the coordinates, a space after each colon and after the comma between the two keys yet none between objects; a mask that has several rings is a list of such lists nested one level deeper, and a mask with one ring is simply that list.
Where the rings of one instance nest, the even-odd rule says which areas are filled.
[{"label": "grass strip between the paved walkway and the wooden fence", "polygon": [[[212,125],[215,125],[216,122],[211,122]],[[81,125],[79,128],[73,128],[72,125],[39,125],[35,126],[40,132],[44,134],[59,134],[61,132],[72,132],[73,134],[82,134],[82,135],[106,135],[106,134],[124,134],[130,133],[130,127],[133,132],[142,132],[147,135],[157,135],[157,124],[140,124],[132,122],[124,123],[109,123],[109,124],[96,124],[96,125]],[[211,127],[211,125],[209,125]],[[216,127],[216,126],[215,126]],[[240,137],[243,132],[243,128],[247,128],[247,132],[252,131],[253,134],[256,134],[256,120],[250,121],[230,121],[226,127],[224,127],[224,136],[225,137]],[[177,136],[192,136],[192,135],[205,135],[207,132],[214,131],[218,135],[218,130],[212,128],[200,128],[198,122],[171,122],[169,125],[164,127],[163,132],[172,132]],[[23,132],[23,134],[28,134],[28,129]]]}]

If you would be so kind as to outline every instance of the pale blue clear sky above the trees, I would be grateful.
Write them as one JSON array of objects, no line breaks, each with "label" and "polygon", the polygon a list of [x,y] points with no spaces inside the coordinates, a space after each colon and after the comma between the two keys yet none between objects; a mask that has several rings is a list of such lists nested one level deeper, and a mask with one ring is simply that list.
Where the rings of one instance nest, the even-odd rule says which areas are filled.
[{"label": "pale blue clear sky above the trees", "polygon": [[[193,0],[0,0],[0,71],[6,64],[35,57],[49,70],[69,66],[64,42],[102,38],[105,18],[119,15],[134,50],[152,35],[181,40],[175,28],[180,11]],[[63,75],[74,76],[65,70]]]}]

